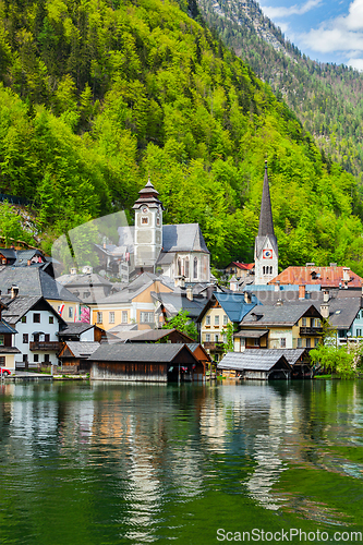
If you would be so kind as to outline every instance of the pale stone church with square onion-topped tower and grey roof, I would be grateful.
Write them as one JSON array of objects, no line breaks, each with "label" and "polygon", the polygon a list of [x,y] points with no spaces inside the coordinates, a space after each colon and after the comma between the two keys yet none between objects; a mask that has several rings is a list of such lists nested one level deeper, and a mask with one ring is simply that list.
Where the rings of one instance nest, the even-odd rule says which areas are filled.
[{"label": "pale stone church with square onion-topped tower and grey roof", "polygon": [[210,281],[210,253],[198,223],[162,223],[164,206],[150,181],[138,192],[134,227],[119,227],[130,268],[169,277],[176,286]]}]

